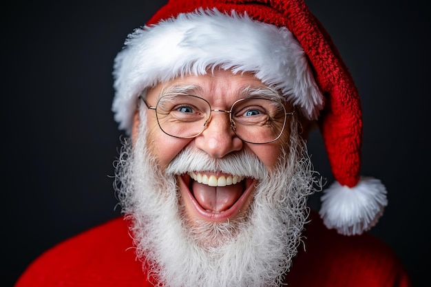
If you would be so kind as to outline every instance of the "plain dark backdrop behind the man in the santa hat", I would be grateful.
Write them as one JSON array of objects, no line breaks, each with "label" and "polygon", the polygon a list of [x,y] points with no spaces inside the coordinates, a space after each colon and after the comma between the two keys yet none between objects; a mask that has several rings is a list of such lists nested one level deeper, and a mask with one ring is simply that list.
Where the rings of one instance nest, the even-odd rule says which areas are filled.
[{"label": "plain dark backdrop behind the man in the santa hat", "polygon": [[[112,62],[165,1],[14,1],[1,19],[3,286],[54,244],[119,214]],[[355,78],[364,175],[389,205],[372,233],[428,281],[430,56],[425,1],[308,0]],[[315,167],[332,180],[318,133]],[[318,196],[311,205],[318,208]],[[324,246],[322,246],[324,248]]]}]

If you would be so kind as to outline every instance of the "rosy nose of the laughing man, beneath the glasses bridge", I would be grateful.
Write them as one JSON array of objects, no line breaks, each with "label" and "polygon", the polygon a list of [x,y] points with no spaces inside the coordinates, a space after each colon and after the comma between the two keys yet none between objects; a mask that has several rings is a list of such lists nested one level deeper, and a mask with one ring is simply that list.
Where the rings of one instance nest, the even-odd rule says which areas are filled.
[{"label": "rosy nose of the laughing man, beneath the glasses bridge", "polygon": [[243,142],[231,129],[229,114],[215,110],[207,127],[195,138],[195,145],[213,158],[222,158],[233,151],[240,151]]}]

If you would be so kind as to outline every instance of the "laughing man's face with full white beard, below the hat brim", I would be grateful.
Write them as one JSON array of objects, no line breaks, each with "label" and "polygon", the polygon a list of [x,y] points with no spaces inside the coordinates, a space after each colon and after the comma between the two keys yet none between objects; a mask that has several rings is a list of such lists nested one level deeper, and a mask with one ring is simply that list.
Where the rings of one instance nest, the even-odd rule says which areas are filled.
[{"label": "laughing man's face with full white beard, below the hat brim", "polygon": [[[178,91],[204,98],[211,109],[222,110],[252,93],[280,97],[251,74],[215,70],[160,83],[149,89],[145,102],[154,107],[167,93],[177,99]],[[172,98],[164,103],[171,102]],[[297,252],[307,217],[306,198],[315,182],[296,116],[287,118],[277,140],[250,144],[235,135],[229,114],[213,111],[202,134],[185,139],[165,134],[156,111],[141,104],[134,116],[132,141],[125,140],[120,152],[116,184],[123,212],[133,222],[136,254],[148,272],[166,286],[280,286]],[[169,113],[158,111],[165,120],[164,130],[177,136],[189,131],[190,125],[180,129],[178,123],[188,116],[200,118],[204,112],[182,113],[208,112],[208,107],[194,104],[191,100],[187,105],[175,104],[175,109],[169,106]],[[240,116],[264,114],[262,106],[275,107],[246,105],[235,112],[238,123]],[[282,109],[276,106],[275,110]],[[251,119],[242,120],[244,127]],[[244,130],[238,131],[238,123],[236,131],[241,134]],[[269,124],[252,130],[271,127],[275,132],[264,136],[253,132],[253,138],[245,132],[241,135],[248,141],[274,139],[280,131],[277,120],[262,123]],[[200,127],[193,130],[193,136],[199,131]]]}]

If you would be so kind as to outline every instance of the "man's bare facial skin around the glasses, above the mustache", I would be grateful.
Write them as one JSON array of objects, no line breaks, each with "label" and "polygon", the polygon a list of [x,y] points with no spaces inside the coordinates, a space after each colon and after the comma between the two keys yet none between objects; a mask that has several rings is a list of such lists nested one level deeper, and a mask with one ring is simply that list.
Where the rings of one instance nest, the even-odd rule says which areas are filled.
[{"label": "man's bare facial skin around the glasses, above the mustache", "polygon": [[[202,81],[203,80],[203,81]],[[185,76],[176,78],[166,83],[161,83],[151,88],[147,92],[147,103],[155,105],[162,89],[170,85],[196,85],[194,89],[196,96],[205,98],[211,104],[213,109],[229,109],[231,105],[239,98],[244,97],[240,91],[246,86],[265,87],[265,85],[252,74],[232,74],[229,71],[215,70],[214,75],[207,74],[202,76]],[[138,125],[138,113],[134,117],[134,127]],[[178,152],[187,145],[198,147],[209,153],[215,158],[222,158],[227,153],[248,149],[255,153],[267,169],[271,170],[280,156],[280,145],[285,140],[277,140],[269,144],[255,145],[242,142],[235,136],[229,126],[229,116],[223,113],[213,113],[211,123],[207,129],[198,137],[191,139],[174,138],[163,133],[158,127],[156,114],[147,112],[147,129],[150,149],[154,152],[160,167],[166,168],[169,162],[178,154]],[[288,128],[286,127],[283,137],[288,138]],[[132,137],[136,138],[136,129],[132,130]],[[163,145],[154,145],[154,142],[163,142]]]}]

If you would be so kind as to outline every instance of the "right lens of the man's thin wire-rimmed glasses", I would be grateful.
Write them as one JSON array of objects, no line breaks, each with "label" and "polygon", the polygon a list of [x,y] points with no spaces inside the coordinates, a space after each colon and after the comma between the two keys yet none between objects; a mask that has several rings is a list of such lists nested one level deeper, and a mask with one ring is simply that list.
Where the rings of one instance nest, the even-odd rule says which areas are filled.
[{"label": "right lens of the man's thin wire-rimmed glasses", "polygon": [[232,107],[235,134],[246,142],[266,143],[280,137],[286,123],[282,103],[266,98],[239,100]]}]

